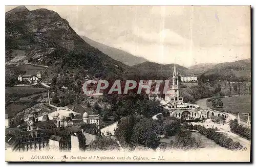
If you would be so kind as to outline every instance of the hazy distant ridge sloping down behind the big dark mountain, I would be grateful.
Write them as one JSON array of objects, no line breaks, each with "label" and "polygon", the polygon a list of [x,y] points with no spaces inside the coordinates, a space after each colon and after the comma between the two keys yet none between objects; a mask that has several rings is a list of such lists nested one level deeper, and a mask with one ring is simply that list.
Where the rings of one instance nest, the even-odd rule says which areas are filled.
[{"label": "hazy distant ridge sloping down behind the big dark mountain", "polygon": [[120,61],[126,65],[133,66],[136,64],[143,63],[146,60],[143,57],[134,56],[130,53],[124,52],[122,50],[116,49],[114,47],[110,47],[108,45],[96,42],[88,37],[80,36],[84,41],[89,43],[91,46],[97,48],[101,52],[103,52],[106,55],[109,55],[112,59],[115,59],[117,61]]}]

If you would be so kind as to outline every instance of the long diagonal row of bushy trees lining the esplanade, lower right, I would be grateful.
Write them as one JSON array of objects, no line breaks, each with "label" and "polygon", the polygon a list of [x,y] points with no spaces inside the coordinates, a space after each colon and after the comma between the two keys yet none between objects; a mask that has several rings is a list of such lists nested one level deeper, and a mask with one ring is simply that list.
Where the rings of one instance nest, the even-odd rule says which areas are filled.
[{"label": "long diagonal row of bushy trees lining the esplanade, lower right", "polygon": [[231,149],[243,149],[244,147],[238,141],[233,141],[230,137],[225,136],[223,133],[216,132],[213,128],[205,128],[201,125],[195,125],[194,130],[197,130],[200,134],[205,135],[211,140],[214,140],[216,144]]}]

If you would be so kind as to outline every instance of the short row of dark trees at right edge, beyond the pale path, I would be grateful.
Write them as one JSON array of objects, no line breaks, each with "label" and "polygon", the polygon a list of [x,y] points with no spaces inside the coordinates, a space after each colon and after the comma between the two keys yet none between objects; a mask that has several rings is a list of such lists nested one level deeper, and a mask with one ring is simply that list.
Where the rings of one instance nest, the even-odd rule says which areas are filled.
[{"label": "short row of dark trees at right edge, beyond the pale path", "polygon": [[231,120],[229,126],[230,126],[231,132],[242,135],[247,139],[251,139],[251,130],[243,127],[242,125],[239,125],[237,119]]}]

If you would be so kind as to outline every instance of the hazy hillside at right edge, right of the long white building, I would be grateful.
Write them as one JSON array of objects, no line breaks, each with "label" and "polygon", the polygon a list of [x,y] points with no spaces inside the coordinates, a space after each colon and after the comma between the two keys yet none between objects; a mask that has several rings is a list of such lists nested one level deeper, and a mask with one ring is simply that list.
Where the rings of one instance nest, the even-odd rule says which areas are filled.
[{"label": "hazy hillside at right edge, right of the long white building", "polygon": [[250,81],[251,59],[217,64],[206,71],[204,75],[217,80]]}]

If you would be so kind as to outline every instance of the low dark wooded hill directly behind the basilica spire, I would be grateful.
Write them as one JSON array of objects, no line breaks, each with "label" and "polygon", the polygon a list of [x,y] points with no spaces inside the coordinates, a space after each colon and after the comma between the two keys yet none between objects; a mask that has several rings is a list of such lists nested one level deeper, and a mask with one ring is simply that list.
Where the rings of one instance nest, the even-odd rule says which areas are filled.
[{"label": "low dark wooded hill directly behind the basilica spire", "polygon": [[[127,74],[127,76],[134,77],[136,79],[148,79],[148,80],[165,80],[173,75],[174,64],[159,64],[154,62],[143,62],[133,66],[133,70]],[[178,74],[188,75],[193,74],[193,71],[176,64]]]}]

